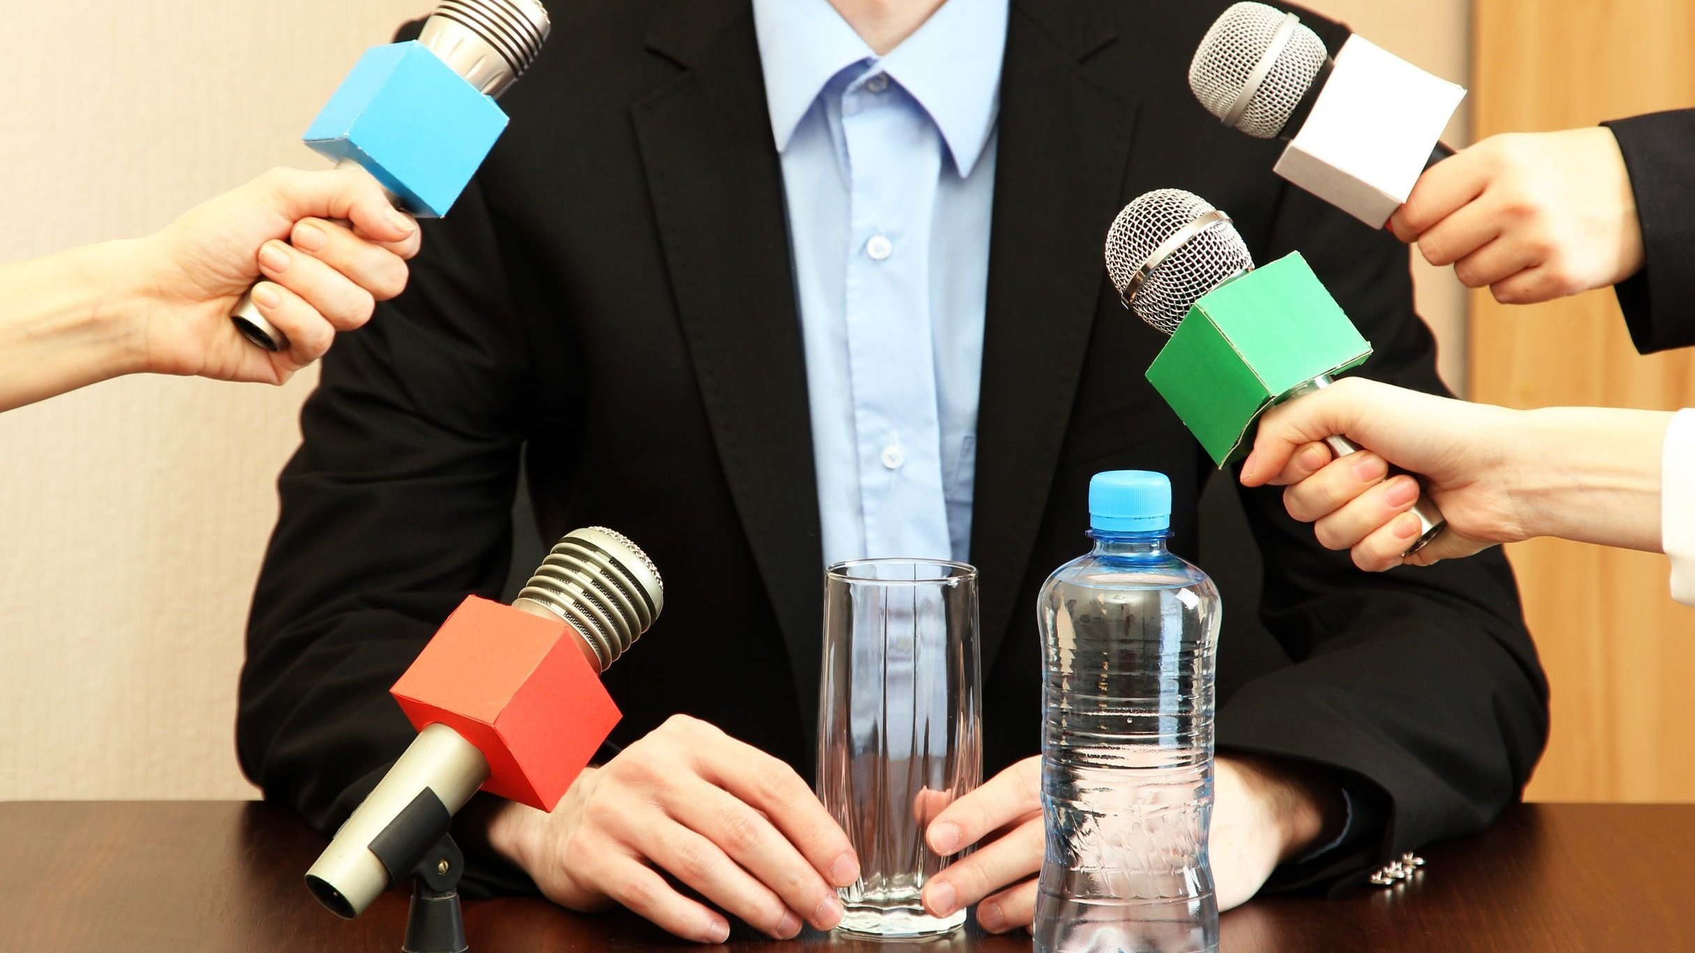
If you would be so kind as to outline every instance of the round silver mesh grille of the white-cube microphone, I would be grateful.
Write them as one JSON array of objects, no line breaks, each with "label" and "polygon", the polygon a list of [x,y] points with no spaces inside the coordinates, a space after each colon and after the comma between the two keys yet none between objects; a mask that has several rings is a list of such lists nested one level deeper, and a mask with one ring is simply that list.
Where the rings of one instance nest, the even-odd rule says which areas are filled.
[{"label": "round silver mesh grille of the white-cube microphone", "polygon": [[[1188,64],[1188,88],[1207,112],[1220,120],[1231,112],[1281,24],[1283,12],[1264,3],[1234,3],[1214,20]],[[1259,139],[1276,137],[1327,56],[1319,34],[1297,25],[1236,129]]]}]

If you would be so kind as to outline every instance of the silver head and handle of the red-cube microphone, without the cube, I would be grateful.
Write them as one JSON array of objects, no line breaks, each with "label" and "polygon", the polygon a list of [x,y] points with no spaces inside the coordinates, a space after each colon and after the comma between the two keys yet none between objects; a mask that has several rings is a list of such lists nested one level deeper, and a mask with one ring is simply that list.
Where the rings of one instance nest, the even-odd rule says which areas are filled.
[{"label": "silver head and handle of the red-cube microphone, without the cube", "polygon": [[[664,580],[639,546],[593,526],[559,539],[512,607],[568,622],[583,656],[605,672],[659,617]],[[364,912],[405,873],[405,861],[393,870],[393,856],[429,850],[488,778],[490,761],[476,744],[446,724],[425,726],[307,872],[312,895],[342,917]]]}]

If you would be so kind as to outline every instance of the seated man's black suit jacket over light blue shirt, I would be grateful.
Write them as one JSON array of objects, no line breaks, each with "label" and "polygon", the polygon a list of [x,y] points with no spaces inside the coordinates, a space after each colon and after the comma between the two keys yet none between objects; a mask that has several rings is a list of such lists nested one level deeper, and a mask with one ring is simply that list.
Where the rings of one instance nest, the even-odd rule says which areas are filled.
[{"label": "seated man's black suit jacket over light blue shirt", "polygon": [[[1405,246],[1281,183],[1275,144],[1193,102],[1188,58],[1222,7],[1012,3],[971,543],[988,772],[1039,750],[1034,600],[1088,546],[1090,475],[1168,473],[1190,555],[1202,485],[1234,478],[1146,383],[1164,339],[1107,285],[1102,241],[1129,198],[1190,188],[1256,259],[1298,246],[1376,344],[1371,375],[1441,387]],[[280,480],[237,738],[266,795],[324,831],[412,739],[388,685],[466,594],[498,594],[520,448],[544,538],[614,526],[666,577],[664,617],[607,673],[614,739],[688,712],[810,777],[819,500],[749,3],[559,14],[412,288],[324,361]],[[1278,490],[1244,500],[1275,641],[1225,624],[1219,746],[1324,765],[1381,800],[1364,841],[1312,873],[1346,883],[1488,824],[1548,727],[1507,563],[1366,575]]]}]

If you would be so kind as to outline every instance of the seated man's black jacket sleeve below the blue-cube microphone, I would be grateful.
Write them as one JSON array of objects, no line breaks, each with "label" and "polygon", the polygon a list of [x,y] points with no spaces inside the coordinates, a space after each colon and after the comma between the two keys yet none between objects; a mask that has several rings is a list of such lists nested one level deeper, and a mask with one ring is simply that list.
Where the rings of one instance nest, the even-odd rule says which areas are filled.
[{"label": "seated man's black jacket sleeve below the blue-cube microphone", "polygon": [[398,307],[325,356],[278,482],[236,739],[264,797],[325,834],[415,736],[388,687],[505,580],[527,361],[503,275],[473,185]]}]

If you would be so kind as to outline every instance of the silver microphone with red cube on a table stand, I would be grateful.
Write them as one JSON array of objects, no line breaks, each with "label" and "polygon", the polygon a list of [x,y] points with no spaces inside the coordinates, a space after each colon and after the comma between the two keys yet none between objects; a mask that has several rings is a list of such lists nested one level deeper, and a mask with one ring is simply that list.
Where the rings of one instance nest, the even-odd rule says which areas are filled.
[{"label": "silver microphone with red cube on a table stand", "polygon": [[553,811],[619,721],[600,673],[663,607],[653,560],[603,527],[566,534],[512,605],[459,604],[392,688],[417,739],[307,872],[312,894],[354,917],[420,863],[458,882],[446,834],[478,790]]}]

